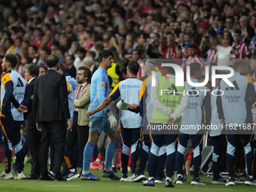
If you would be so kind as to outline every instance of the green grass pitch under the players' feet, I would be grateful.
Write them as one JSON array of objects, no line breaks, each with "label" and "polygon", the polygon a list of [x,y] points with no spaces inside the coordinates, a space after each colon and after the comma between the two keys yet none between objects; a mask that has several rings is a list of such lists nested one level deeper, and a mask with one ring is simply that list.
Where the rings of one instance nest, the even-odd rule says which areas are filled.
[{"label": "green grass pitch under the players' feet", "polygon": [[[4,163],[0,163],[0,171],[5,169]],[[24,168],[25,175],[29,175],[31,166],[29,163],[26,164]],[[78,168],[80,171],[81,169]],[[210,184],[206,185],[191,185],[192,175],[189,176],[184,185],[175,185],[175,187],[164,187],[164,184],[155,184],[154,187],[144,187],[142,183],[126,183],[120,181],[111,181],[108,178],[102,177],[102,170],[91,170],[92,174],[100,178],[100,181],[82,181],[81,178],[73,179],[72,181],[29,181],[29,180],[0,180],[0,191],[9,192],[28,192],[28,191],[38,191],[38,192],[65,192],[65,191],[75,191],[75,192],[108,192],[108,191],[118,191],[118,192],[162,192],[162,191],[187,191],[187,192],[214,192],[214,191],[255,191],[256,187],[245,186],[243,184],[236,184],[236,186],[224,186],[222,184]],[[13,172],[14,175],[14,172]],[[120,177],[121,172],[118,171],[117,175]],[[148,176],[148,175],[146,175]],[[211,181],[212,178],[200,175],[203,181]]]}]

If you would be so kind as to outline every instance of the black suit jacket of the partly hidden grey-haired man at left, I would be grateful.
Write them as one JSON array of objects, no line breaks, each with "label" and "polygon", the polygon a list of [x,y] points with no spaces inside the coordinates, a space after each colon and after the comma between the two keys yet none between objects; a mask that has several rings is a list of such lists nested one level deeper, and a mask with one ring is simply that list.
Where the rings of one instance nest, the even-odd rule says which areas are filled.
[{"label": "black suit jacket of the partly hidden grey-haired man at left", "polygon": [[[34,95],[34,86],[35,86],[35,79],[34,78],[32,81],[30,81],[29,84],[27,84],[28,90],[29,90],[29,94],[30,96]],[[24,118],[25,118],[25,130],[32,130],[32,129],[36,129],[35,126],[35,119],[33,117],[33,99],[29,100],[29,104],[28,104],[28,112],[24,113]]]}]

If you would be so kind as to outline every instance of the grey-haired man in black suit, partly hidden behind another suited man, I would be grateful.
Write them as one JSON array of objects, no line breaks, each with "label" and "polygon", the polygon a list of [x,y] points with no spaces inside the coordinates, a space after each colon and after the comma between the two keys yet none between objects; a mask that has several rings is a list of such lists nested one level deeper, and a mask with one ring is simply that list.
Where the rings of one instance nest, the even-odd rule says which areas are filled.
[{"label": "grey-haired man in black suit, partly hidden behind another suited man", "polygon": [[[25,130],[26,130],[26,142],[29,146],[29,151],[32,156],[33,165],[31,169],[31,174],[26,177],[26,179],[37,179],[40,173],[39,166],[39,150],[41,144],[41,132],[36,129],[35,119],[32,112],[33,95],[35,79],[38,77],[39,68],[35,64],[25,65],[25,78],[27,82],[27,87],[29,89],[30,100],[28,104],[28,112],[24,113],[25,117]],[[24,154],[26,155],[26,154]]]}]

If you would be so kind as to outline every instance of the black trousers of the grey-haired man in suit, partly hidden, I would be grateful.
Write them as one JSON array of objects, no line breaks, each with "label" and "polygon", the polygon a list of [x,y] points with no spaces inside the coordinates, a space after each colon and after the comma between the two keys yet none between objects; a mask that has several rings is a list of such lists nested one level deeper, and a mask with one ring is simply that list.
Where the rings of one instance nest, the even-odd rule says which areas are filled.
[{"label": "black trousers of the grey-haired man in suit, partly hidden", "polygon": [[37,129],[26,130],[26,136],[26,141],[28,143],[29,151],[33,160],[31,173],[36,173],[37,175],[39,175],[39,151],[41,145],[41,132]]}]

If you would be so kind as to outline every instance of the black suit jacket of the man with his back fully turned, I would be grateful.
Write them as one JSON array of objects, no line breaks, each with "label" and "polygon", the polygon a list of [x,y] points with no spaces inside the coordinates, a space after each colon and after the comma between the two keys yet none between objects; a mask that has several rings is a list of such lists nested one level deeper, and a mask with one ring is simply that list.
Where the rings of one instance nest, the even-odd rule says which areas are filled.
[{"label": "black suit jacket of the man with his back fully turned", "polygon": [[54,69],[36,78],[33,115],[35,123],[70,118],[66,78]]}]

